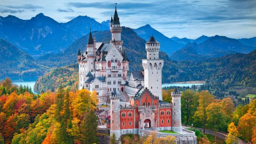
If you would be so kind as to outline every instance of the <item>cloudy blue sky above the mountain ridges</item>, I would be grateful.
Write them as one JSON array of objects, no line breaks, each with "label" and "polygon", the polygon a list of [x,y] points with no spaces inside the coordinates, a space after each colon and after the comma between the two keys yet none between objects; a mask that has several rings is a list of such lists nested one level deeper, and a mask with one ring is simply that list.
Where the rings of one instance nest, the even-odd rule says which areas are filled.
[{"label": "cloudy blue sky above the mountain ridges", "polygon": [[121,26],[149,24],[167,37],[190,39],[256,37],[256,0],[0,0],[0,16],[43,13],[63,23],[86,15],[101,23],[114,14],[115,2]]}]

